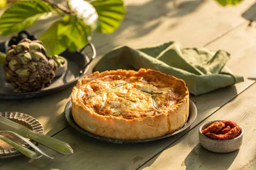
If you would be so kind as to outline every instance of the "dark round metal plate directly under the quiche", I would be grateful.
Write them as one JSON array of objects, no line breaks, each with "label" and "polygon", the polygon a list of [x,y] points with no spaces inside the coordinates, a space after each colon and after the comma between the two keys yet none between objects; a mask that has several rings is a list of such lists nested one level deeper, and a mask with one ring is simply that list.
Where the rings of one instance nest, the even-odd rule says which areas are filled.
[{"label": "dark round metal plate directly under the quiche", "polygon": [[169,137],[176,135],[177,133],[180,133],[183,130],[189,128],[189,126],[195,121],[195,118],[197,117],[197,107],[191,100],[189,100],[189,117],[187,119],[187,122],[181,128],[177,129],[173,133],[169,133],[167,135],[160,136],[157,138],[150,138],[150,139],[143,139],[143,140],[119,140],[119,139],[106,138],[106,137],[102,137],[99,135],[94,135],[94,134],[89,133],[86,130],[83,130],[82,128],[80,128],[72,117],[71,107],[72,107],[72,104],[71,104],[71,100],[70,100],[65,107],[65,116],[67,118],[67,121],[73,128],[75,128],[79,132],[83,133],[84,135],[90,136],[92,138],[96,138],[98,140],[102,140],[102,141],[106,141],[106,142],[110,142],[110,143],[120,143],[120,144],[147,143],[147,142],[151,142],[151,141],[155,141],[155,140],[169,138]]}]

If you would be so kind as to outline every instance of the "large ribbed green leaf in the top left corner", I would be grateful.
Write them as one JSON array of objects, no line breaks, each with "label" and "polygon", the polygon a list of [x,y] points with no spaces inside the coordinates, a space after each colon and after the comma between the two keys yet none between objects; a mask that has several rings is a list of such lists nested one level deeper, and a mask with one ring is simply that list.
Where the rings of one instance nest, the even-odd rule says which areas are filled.
[{"label": "large ribbed green leaf in the top left corner", "polygon": [[52,8],[40,0],[18,1],[11,5],[0,18],[2,35],[29,28],[38,20],[51,16]]}]

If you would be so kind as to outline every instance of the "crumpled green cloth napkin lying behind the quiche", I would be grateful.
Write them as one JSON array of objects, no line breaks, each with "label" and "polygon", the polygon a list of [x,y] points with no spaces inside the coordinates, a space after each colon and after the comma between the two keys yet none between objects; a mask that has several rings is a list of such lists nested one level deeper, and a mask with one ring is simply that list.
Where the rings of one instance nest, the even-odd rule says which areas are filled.
[{"label": "crumpled green cloth napkin lying behind the quiche", "polygon": [[223,50],[182,48],[172,41],[137,50],[127,46],[117,47],[102,57],[94,71],[159,70],[183,79],[191,94],[201,95],[243,81],[243,77],[233,75],[225,66],[229,58],[229,53]]}]

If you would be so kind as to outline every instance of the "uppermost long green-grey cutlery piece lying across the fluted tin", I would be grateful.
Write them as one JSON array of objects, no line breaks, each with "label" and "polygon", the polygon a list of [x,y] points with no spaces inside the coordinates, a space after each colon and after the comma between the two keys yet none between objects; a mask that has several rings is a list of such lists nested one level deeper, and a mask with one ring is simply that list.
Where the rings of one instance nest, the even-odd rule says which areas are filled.
[{"label": "uppermost long green-grey cutlery piece lying across the fluted tin", "polygon": [[73,150],[69,146],[69,144],[67,144],[61,140],[52,138],[50,136],[37,133],[33,130],[26,128],[23,125],[13,122],[12,120],[6,119],[3,116],[0,116],[0,130],[13,131],[25,138],[34,140],[34,141],[46,146],[47,148],[55,150],[56,152],[62,153],[64,155],[69,155],[69,154],[73,153]]}]

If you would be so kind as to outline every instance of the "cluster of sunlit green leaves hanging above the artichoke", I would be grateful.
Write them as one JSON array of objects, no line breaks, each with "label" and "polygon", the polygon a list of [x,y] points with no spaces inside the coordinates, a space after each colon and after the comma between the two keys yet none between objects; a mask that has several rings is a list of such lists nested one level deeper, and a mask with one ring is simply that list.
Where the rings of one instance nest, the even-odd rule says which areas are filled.
[{"label": "cluster of sunlit green leaves hanging above the artichoke", "polygon": [[58,55],[66,49],[74,52],[84,47],[94,31],[108,34],[116,30],[125,7],[122,0],[67,0],[67,7],[52,0],[23,0],[5,10],[0,18],[0,32],[9,35],[26,30],[53,14],[61,19],[41,34],[39,40],[49,55]]}]

